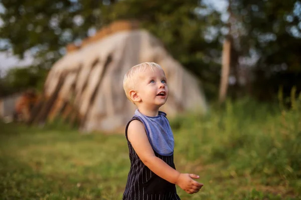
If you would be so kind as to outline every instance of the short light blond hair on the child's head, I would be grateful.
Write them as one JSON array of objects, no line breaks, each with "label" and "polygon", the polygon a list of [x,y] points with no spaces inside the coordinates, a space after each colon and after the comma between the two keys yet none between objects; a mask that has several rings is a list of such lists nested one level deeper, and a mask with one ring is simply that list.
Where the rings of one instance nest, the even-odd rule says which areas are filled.
[{"label": "short light blond hair on the child's head", "polygon": [[155,63],[155,62],[142,62],[140,64],[132,66],[125,73],[124,78],[123,78],[123,89],[125,91],[126,97],[130,101],[132,101],[132,99],[129,96],[129,91],[131,89],[135,89],[135,84],[136,84],[136,81],[137,81],[137,74],[139,72],[144,71],[146,68],[149,68],[152,71],[154,71],[155,69],[163,70],[162,67],[159,64]]}]

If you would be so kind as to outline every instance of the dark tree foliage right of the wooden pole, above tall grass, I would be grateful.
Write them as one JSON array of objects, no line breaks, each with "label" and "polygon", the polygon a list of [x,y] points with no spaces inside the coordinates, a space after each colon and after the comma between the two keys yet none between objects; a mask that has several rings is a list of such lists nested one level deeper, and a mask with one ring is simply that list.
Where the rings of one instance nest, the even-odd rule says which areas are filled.
[{"label": "dark tree foliage right of the wooden pole, above tall grass", "polygon": [[251,64],[253,94],[271,99],[281,84],[286,90],[301,85],[301,2],[232,0],[230,6],[238,57],[257,57]]}]

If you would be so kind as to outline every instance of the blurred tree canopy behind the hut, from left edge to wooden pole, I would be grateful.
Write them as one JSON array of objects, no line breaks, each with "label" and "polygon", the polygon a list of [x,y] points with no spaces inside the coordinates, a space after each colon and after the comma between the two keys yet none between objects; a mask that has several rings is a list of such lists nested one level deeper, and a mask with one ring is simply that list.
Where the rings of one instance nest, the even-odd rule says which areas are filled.
[{"label": "blurred tree canopy behind the hut, from left edge to wooden pole", "polygon": [[0,39],[22,57],[30,50],[35,65],[50,68],[70,42],[78,43],[116,19],[138,19],[172,55],[198,75],[216,95],[219,79],[220,15],[200,0],[3,0]]}]

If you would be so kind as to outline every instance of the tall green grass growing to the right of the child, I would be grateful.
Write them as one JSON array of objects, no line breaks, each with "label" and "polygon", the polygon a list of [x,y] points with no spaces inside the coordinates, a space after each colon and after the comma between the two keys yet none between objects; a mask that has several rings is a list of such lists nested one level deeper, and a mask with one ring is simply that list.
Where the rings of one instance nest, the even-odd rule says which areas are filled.
[{"label": "tall green grass growing to the right of the child", "polygon": [[[280,111],[275,105],[258,105],[250,99],[235,104],[228,101],[223,113],[213,110],[206,117],[183,117],[178,131],[194,134],[198,142],[210,144],[210,148],[203,149],[205,162],[223,159],[228,169],[240,174],[248,171],[300,178],[300,102],[301,99],[294,100],[292,110]],[[196,148],[199,143],[192,138],[187,137],[190,146],[183,152],[194,160],[199,154],[191,152],[191,145]],[[213,140],[216,145],[210,142]]]}]

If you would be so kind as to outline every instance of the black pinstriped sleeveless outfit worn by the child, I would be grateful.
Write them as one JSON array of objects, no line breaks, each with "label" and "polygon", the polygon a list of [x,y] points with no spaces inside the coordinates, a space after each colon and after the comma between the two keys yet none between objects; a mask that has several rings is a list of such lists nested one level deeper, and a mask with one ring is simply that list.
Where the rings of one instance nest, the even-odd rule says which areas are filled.
[{"label": "black pinstriped sleeveless outfit worn by the child", "polygon": [[[132,120],[140,120],[133,117]],[[176,185],[161,178],[150,170],[140,160],[127,138],[127,123],[125,137],[129,149],[130,170],[127,176],[123,200],[180,200],[177,194]],[[174,154],[169,156],[160,155],[154,150],[157,157],[165,161],[168,165],[176,169],[174,164]]]}]

